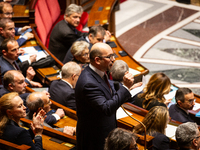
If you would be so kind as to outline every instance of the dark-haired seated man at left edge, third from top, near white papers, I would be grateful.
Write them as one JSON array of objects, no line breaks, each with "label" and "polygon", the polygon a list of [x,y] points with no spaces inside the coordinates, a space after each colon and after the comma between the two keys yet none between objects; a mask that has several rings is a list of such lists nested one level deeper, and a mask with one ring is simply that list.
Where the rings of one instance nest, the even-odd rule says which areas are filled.
[{"label": "dark-haired seated man at left edge, third from top, near white papers", "polygon": [[[35,71],[30,67],[29,61],[20,62],[19,57],[19,45],[14,39],[5,39],[1,44],[2,56],[0,57],[1,66],[1,78],[3,80],[4,74],[8,70],[21,70],[22,74],[26,75],[26,82],[29,86],[42,87],[38,82],[32,81],[35,76]],[[17,62],[18,61],[18,62]],[[35,59],[30,59],[32,63]]]}]

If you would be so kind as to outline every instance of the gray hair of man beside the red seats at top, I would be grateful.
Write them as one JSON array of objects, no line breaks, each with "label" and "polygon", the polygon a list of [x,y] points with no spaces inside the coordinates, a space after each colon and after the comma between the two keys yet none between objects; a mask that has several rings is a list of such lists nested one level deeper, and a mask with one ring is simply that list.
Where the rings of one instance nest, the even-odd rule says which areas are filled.
[{"label": "gray hair of man beside the red seats at top", "polygon": [[65,16],[70,16],[73,13],[83,13],[83,8],[76,4],[70,4],[65,10]]}]

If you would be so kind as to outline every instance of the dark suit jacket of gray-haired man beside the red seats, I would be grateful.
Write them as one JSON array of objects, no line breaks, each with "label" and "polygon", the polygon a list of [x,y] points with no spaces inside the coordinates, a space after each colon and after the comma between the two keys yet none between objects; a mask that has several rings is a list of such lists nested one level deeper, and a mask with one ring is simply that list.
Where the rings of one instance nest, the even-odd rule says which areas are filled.
[{"label": "dark suit jacket of gray-haired man beside the red seats", "polygon": [[62,62],[73,42],[82,35],[82,32],[70,26],[65,20],[61,20],[51,32],[49,50]]}]

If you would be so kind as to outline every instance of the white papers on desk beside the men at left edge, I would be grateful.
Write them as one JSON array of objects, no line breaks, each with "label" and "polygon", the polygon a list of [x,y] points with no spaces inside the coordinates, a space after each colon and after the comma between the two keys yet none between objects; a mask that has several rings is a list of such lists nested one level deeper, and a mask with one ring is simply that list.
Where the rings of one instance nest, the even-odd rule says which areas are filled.
[{"label": "white papers on desk beside the men at left edge", "polygon": [[36,61],[47,57],[47,54],[44,52],[44,50],[36,50],[33,46],[25,47],[23,50],[25,51],[25,54],[19,56],[21,62],[28,60],[31,55],[37,55]]}]

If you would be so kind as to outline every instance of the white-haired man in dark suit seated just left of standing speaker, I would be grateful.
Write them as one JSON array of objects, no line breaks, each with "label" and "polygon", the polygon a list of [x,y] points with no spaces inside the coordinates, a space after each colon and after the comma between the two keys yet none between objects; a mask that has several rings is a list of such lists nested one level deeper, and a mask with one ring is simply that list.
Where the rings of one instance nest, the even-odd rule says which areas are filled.
[{"label": "white-haired man in dark suit seated just left of standing speaker", "polygon": [[49,93],[51,99],[76,110],[75,91],[76,82],[81,74],[80,66],[75,62],[66,63],[62,69],[62,79],[51,83]]}]

